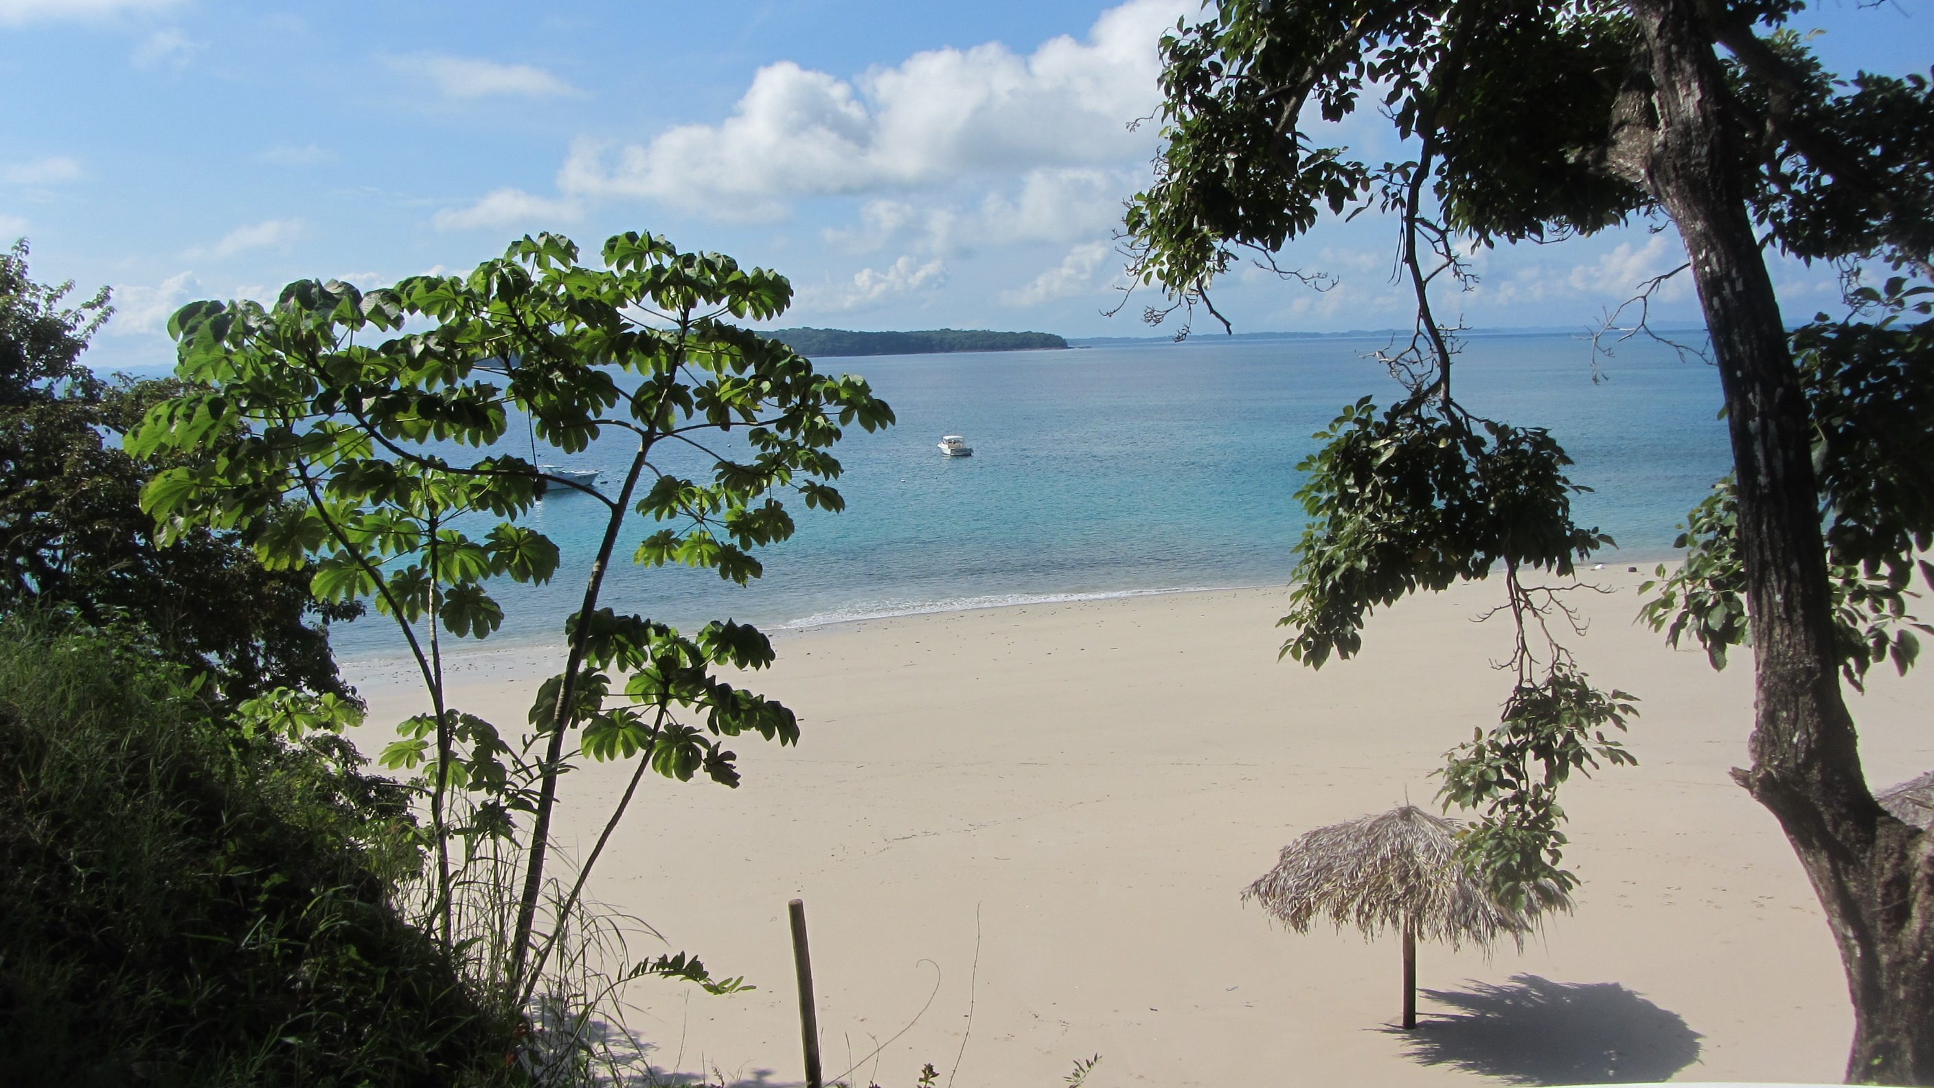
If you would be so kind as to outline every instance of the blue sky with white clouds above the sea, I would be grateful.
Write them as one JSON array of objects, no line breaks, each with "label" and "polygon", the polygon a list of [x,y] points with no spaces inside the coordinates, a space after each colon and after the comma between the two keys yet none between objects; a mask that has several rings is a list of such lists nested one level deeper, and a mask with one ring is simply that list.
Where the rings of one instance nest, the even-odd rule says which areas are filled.
[{"label": "blue sky with white clouds above the sea", "polygon": [[[0,238],[39,281],[110,285],[97,368],[172,360],[166,317],[294,279],[462,271],[536,230],[619,230],[791,277],[781,325],[1155,335],[1114,234],[1149,180],[1157,39],[1197,0],[228,2],[0,0]],[[1837,72],[1926,72],[1934,4],[1822,0],[1797,25]],[[1365,114],[1336,139],[1402,155]],[[1408,325],[1389,221],[1244,267],[1238,331]],[[1683,261],[1634,223],[1472,256],[1439,314],[1586,327]],[[1681,281],[1685,277],[1679,277]],[[1654,317],[1696,319],[1673,281]],[[1830,269],[1775,265],[1789,316]],[[1201,323],[1197,325],[1201,329]]]}]

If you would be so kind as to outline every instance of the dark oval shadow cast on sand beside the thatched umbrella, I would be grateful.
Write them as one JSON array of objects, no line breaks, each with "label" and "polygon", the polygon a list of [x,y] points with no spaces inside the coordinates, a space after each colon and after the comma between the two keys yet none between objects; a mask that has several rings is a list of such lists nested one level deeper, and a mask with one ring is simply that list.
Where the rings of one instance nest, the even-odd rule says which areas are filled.
[{"label": "dark oval shadow cast on sand beside the thatched umbrella", "polygon": [[1551,982],[1425,989],[1454,1012],[1435,1012],[1404,1038],[1404,1057],[1495,1076],[1507,1084],[1667,1080],[1698,1061],[1700,1034],[1669,1009],[1615,982]]}]

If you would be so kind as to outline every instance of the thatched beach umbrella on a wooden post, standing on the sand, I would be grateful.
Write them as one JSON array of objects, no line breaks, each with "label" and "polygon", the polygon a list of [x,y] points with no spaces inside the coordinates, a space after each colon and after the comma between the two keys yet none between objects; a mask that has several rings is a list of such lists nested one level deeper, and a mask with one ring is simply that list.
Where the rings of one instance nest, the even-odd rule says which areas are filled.
[{"label": "thatched beach umbrella on a wooden post, standing on the sand", "polygon": [[1458,821],[1402,805],[1319,827],[1282,848],[1276,867],[1244,889],[1298,933],[1317,918],[1356,925],[1365,939],[1404,935],[1404,1028],[1418,1026],[1418,937],[1489,951],[1499,937],[1524,947],[1536,910],[1570,910],[1557,887],[1538,889],[1532,912],[1493,900],[1454,858]]}]

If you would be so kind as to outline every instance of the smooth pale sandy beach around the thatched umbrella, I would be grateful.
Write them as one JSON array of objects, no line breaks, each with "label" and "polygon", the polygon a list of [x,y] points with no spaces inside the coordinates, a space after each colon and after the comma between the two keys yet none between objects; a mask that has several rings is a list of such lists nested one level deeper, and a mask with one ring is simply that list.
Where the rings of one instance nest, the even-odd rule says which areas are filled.
[{"label": "smooth pale sandy beach around the thatched umbrella", "polygon": [[[1420,947],[1416,1032],[1392,1030],[1394,939],[1300,937],[1238,892],[1302,831],[1429,803],[1441,753],[1495,722],[1507,627],[1472,623],[1501,600],[1481,583],[1377,616],[1363,654],[1321,672],[1276,660],[1280,589],[781,635],[750,683],[803,743],[733,743],[739,790],[648,776],[592,881],[669,941],[634,952],[687,949],[758,989],[642,982],[629,1028],[661,1071],[799,1082],[801,896],[828,1080],[859,1063],[847,1080],[895,1088],[934,1063],[959,1086],[1056,1084],[1097,1053],[1091,1086],[1839,1080],[1851,1009],[1826,923],[1727,778],[1750,656],[1714,674],[1630,623],[1644,575],[1588,577],[1611,592],[1576,594],[1594,623],[1572,645],[1642,699],[1640,765],[1568,786],[1574,916],[1522,954]],[[555,668],[458,658],[456,705],[520,724]],[[395,666],[350,672],[373,722],[422,703]],[[1876,788],[1934,767],[1930,683],[1876,670],[1853,697]],[[627,771],[567,778],[567,844],[590,844]]]}]

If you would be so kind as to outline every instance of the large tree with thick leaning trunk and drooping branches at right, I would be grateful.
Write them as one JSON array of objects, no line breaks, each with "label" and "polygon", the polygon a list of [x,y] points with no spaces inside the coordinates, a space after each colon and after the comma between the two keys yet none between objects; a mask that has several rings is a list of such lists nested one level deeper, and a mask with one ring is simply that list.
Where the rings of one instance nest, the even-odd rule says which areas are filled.
[{"label": "large tree with thick leaning trunk and drooping branches at right", "polygon": [[[1694,521],[1698,561],[1650,616],[1690,610],[1714,647],[1750,637],[1752,767],[1737,778],[1779,819],[1839,945],[1855,1007],[1847,1074],[1934,1084],[1934,844],[1874,801],[1841,697],[1841,674],[1859,680],[1876,654],[1911,664],[1899,602],[1934,532],[1930,325],[1905,323],[1928,314],[1917,281],[1934,271],[1934,95],[1922,76],[1828,74],[1787,27],[1801,8],[1216,4],[1162,41],[1166,147],[1128,211],[1131,271],[1168,296],[1153,317],[1215,314],[1209,290],[1244,250],[1275,267],[1325,213],[1394,213],[1418,302],[1414,339],[1385,356],[1404,397],[1346,412],[1307,465],[1313,525],[1286,652],[1313,666],[1348,656],[1373,608],[1503,569],[1518,683],[1499,728],[1452,755],[1445,798],[1487,805],[1464,850],[1509,892],[1563,877],[1555,790],[1617,759],[1599,728],[1626,705],[1551,637],[1563,600],[1518,579],[1567,573],[1603,542],[1570,523],[1563,449],[1454,401],[1454,329],[1433,316],[1431,287],[1462,279],[1466,244],[1671,221],[1735,474],[1723,509]],[[1323,145],[1323,122],[1365,101],[1408,161],[1373,166]],[[1855,288],[1849,317],[1789,337],[1768,246],[1837,263]],[[1888,267],[1905,275],[1861,285]],[[1934,569],[1920,575],[1934,585]]]}]

